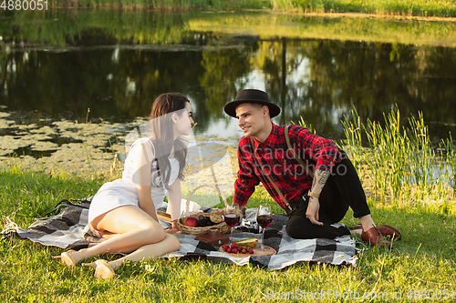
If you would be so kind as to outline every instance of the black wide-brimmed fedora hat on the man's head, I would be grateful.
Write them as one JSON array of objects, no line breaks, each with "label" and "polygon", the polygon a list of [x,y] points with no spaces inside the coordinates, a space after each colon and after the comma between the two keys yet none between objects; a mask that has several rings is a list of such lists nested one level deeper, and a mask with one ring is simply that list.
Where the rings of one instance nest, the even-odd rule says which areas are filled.
[{"label": "black wide-brimmed fedora hat on the man's head", "polygon": [[236,107],[243,103],[257,103],[269,107],[269,115],[275,117],[280,114],[280,107],[269,101],[269,96],[262,90],[243,89],[240,90],[236,99],[224,106],[224,111],[229,116],[236,117]]}]

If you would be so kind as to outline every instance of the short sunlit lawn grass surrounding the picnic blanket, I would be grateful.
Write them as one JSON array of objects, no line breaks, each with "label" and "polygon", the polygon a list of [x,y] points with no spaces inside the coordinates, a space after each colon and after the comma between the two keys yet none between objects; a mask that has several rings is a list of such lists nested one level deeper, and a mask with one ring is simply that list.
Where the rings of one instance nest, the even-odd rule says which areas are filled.
[{"label": "short sunlit lawn grass surrounding the picnic blanket", "polygon": [[[383,132],[386,136],[387,130],[383,129]],[[400,135],[402,139],[404,136]],[[413,141],[411,138],[413,136],[409,137],[410,142]],[[19,227],[26,227],[33,223],[34,217],[48,216],[60,199],[91,196],[109,179],[91,176],[89,172],[85,177],[67,177],[62,173],[46,175],[27,170],[19,164],[12,165],[0,171],[0,187],[3,188],[0,192],[0,216],[4,221],[5,217],[10,217]],[[403,187],[402,190],[407,192],[409,189]],[[383,192],[379,192],[381,196],[380,193]],[[400,298],[397,301],[409,301],[423,298],[420,297],[422,294],[431,294],[429,290],[434,294],[440,291],[440,296],[454,299],[456,217],[452,200],[446,201],[450,202],[448,211],[425,203],[397,203],[395,197],[383,203],[380,201],[380,197],[368,200],[374,219],[378,224],[398,227],[403,239],[395,241],[391,250],[372,248],[359,253],[357,268],[298,264],[268,271],[252,266],[171,258],[126,264],[119,269],[117,278],[105,281],[94,279],[91,268],[61,266],[51,258],[58,255],[61,249],[43,247],[15,237],[2,237],[0,300],[262,302],[269,301],[269,298],[272,298],[271,301],[286,298],[299,300],[299,297],[292,296],[302,296],[307,291],[325,294],[326,301],[342,301],[335,294],[341,296],[344,292],[345,296],[350,293],[352,298],[367,296],[371,301],[388,301],[393,296]],[[257,188],[248,207],[256,207],[260,203],[275,204],[263,187]],[[281,210],[275,208],[275,212]],[[349,211],[342,222],[354,226],[357,220]]]}]

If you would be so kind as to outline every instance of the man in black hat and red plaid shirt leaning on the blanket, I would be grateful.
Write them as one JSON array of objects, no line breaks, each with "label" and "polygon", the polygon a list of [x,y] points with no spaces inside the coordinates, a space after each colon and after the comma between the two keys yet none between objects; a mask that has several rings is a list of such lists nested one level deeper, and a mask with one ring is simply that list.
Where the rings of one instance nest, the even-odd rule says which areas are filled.
[{"label": "man in black hat and red plaid shirt leaning on the blanket", "polygon": [[362,239],[372,246],[390,247],[383,236],[400,237],[394,227],[375,226],[358,174],[345,152],[306,127],[276,126],[271,118],[280,113],[280,107],[264,91],[241,90],[224,111],[239,120],[244,132],[238,145],[233,204],[244,207],[254,187],[262,182],[285,209],[290,237],[349,235],[347,227],[332,226],[348,207],[360,222],[354,229],[361,229]]}]

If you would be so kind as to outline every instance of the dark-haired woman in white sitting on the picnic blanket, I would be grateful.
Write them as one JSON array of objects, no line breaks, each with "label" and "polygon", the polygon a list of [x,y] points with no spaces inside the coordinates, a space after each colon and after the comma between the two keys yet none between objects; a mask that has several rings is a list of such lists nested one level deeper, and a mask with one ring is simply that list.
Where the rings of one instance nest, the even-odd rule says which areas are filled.
[{"label": "dark-haired woman in white sitting on the picnic blanket", "polygon": [[[178,250],[177,231],[181,213],[181,179],[187,148],[181,136],[192,129],[192,107],[181,94],[163,94],[150,113],[151,136],[136,140],[125,160],[122,178],[104,184],[93,197],[88,210],[88,227],[107,240],[94,247],[67,251],[59,258],[74,267],[84,258],[103,253],[125,253],[114,261],[98,259],[90,264],[96,278],[112,278],[125,261],[158,258]],[[171,225],[168,233],[157,219],[168,191]]]}]

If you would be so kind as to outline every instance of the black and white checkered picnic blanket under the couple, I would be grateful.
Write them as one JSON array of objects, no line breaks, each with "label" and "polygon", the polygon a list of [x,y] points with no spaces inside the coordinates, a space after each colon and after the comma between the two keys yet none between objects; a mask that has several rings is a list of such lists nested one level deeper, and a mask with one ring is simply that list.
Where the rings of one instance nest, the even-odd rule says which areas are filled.
[{"label": "black and white checkered picnic blanket under the couple", "polygon": [[[87,228],[88,207],[90,198],[78,203],[67,200],[61,201],[58,207],[63,209],[53,217],[36,219],[36,222],[27,229],[17,227],[10,221],[5,232],[15,233],[17,237],[29,239],[46,246],[80,249],[97,245],[99,237],[91,235]],[[206,209],[207,210],[207,209]],[[337,237],[334,240],[295,239],[288,237],[285,232],[285,215],[274,215],[273,223],[265,229],[264,245],[273,247],[276,254],[273,256],[248,256],[245,258],[232,257],[219,252],[219,247],[196,241],[195,236],[176,234],[181,242],[178,251],[163,258],[204,258],[214,262],[233,263],[237,265],[253,264],[261,268],[281,269],[298,262],[319,262],[334,265],[356,266],[356,241],[349,236]],[[161,220],[161,225],[167,227],[169,223]],[[258,237],[258,230],[241,227],[242,232],[233,234],[233,239]]]}]

